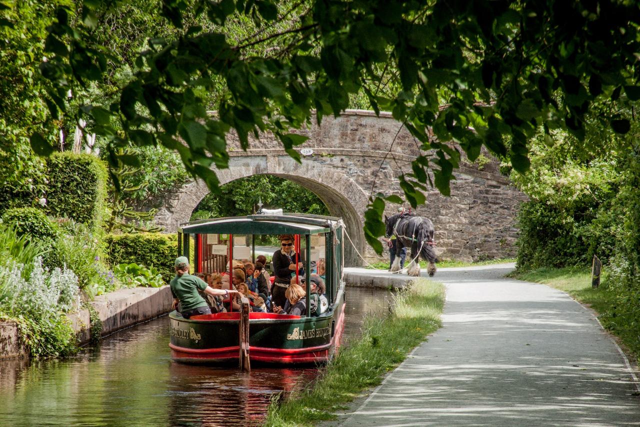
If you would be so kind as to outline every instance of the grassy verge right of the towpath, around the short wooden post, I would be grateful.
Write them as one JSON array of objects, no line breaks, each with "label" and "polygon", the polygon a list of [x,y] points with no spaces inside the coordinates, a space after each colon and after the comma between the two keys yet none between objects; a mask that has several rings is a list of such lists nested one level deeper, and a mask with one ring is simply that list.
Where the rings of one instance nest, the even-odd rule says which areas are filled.
[{"label": "grassy verge right of the towpath, around the short wooden post", "polygon": [[602,284],[597,289],[591,287],[591,271],[588,268],[538,268],[525,273],[513,273],[511,276],[555,287],[591,307],[598,313],[602,326],[620,338],[625,350],[637,362],[640,354],[637,325],[633,317],[612,315],[618,296],[607,286],[606,273],[603,273]]}]

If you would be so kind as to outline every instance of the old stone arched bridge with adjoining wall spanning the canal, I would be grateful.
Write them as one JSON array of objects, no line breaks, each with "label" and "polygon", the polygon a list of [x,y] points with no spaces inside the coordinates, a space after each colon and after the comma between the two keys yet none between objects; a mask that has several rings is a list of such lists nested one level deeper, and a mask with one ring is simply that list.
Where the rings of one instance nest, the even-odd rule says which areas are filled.
[{"label": "old stone arched bridge with adjoining wall spanning the canal", "polygon": [[[310,129],[300,131],[309,137],[300,149],[313,150],[302,156],[301,165],[270,134],[251,140],[246,151],[229,138],[229,168],[218,170],[218,177],[221,184],[227,184],[257,174],[276,175],[310,189],[333,216],[344,219],[358,252],[373,261],[379,257],[367,245],[362,231],[369,195],[402,196],[396,177],[411,172],[411,161],[420,153],[413,136],[400,128],[390,113],[376,117],[372,111],[362,110],[325,117],[321,126],[314,121]],[[451,197],[433,189],[426,194],[426,204],[417,209],[435,224],[440,257],[477,261],[515,255],[515,215],[525,196],[500,175],[495,159],[488,155],[483,159],[483,163],[461,163],[454,172],[456,180],[451,182]],[[156,200],[159,211],[155,222],[175,231],[179,223],[188,222],[207,193],[204,182],[194,181]],[[392,214],[397,205],[388,204],[387,209]],[[345,252],[347,265],[362,264],[348,243]]]}]

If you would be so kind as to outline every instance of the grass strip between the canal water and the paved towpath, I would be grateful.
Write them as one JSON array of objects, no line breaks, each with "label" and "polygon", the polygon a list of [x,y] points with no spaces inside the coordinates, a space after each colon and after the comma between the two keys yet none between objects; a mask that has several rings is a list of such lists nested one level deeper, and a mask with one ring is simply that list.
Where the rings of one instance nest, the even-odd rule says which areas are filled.
[{"label": "grass strip between the canal water and the paved towpath", "polygon": [[349,342],[312,386],[269,407],[266,426],[312,426],[335,419],[336,410],[378,385],[385,373],[440,327],[444,286],[424,278],[396,295],[394,310],[368,318],[362,337]]}]

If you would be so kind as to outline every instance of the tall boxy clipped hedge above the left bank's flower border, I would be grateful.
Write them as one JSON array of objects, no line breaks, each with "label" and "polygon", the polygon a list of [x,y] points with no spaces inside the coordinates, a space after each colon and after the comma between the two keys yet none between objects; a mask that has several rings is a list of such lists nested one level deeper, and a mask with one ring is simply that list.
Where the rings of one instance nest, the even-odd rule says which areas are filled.
[{"label": "tall boxy clipped hedge above the left bank's flower border", "polygon": [[104,221],[107,170],[90,154],[56,153],[47,159],[47,207],[55,217],[66,216],[92,229]]}]

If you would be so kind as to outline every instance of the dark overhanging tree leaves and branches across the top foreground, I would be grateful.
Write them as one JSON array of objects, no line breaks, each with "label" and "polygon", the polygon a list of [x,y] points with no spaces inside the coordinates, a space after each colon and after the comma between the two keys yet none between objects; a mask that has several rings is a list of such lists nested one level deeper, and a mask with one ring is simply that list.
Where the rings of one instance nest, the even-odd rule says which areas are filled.
[{"label": "dark overhanging tree leaves and branches across the top foreground", "polygon": [[[306,137],[292,131],[339,115],[350,99],[391,111],[415,137],[421,154],[402,177],[415,207],[428,185],[450,192],[460,152],[446,141],[470,161],[484,145],[525,172],[527,142],[540,129],[549,137],[565,129],[583,141],[592,117],[607,133],[625,134],[640,98],[640,18],[632,2],[162,1],[156,10],[170,25],[140,54],[119,53],[131,77],[107,99],[77,101],[75,110],[63,94],[111,82],[108,52],[140,29],[148,34],[158,16],[152,1],[139,9],[81,3],[79,16],[58,8],[48,28],[49,121],[61,111],[88,118],[108,141],[113,168],[124,159],[122,147],[163,145],[212,191],[212,166],[228,165],[229,131],[243,149],[250,134],[269,131],[300,161],[295,148]],[[111,17],[119,24],[113,40]],[[37,131],[31,141],[47,151]],[[369,215],[380,209],[371,205]],[[367,237],[381,235],[378,225],[365,223]]]}]

